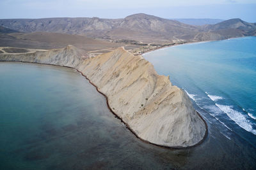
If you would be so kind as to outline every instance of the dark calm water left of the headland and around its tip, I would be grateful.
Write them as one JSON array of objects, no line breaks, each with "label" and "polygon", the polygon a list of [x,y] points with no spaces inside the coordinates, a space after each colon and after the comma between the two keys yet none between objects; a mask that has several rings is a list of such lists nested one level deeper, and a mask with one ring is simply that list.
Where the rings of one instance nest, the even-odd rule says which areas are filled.
[{"label": "dark calm water left of the headland and around its tip", "polygon": [[0,62],[0,169],[255,168],[255,147],[201,113],[204,143],[161,148],[136,138],[74,69]]}]

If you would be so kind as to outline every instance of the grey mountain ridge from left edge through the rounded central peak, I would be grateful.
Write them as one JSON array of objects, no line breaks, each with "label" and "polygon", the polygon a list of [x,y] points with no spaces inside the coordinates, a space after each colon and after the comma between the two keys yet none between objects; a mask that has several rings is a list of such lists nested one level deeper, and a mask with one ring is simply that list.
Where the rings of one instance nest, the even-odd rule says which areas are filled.
[{"label": "grey mountain ridge from left edge through the rounded central peak", "polygon": [[174,20],[143,13],[123,19],[103,18],[42,18],[3,19],[0,25],[21,32],[60,32],[81,34],[91,38],[134,39],[138,41],[165,39],[173,36],[195,35],[198,29]]}]

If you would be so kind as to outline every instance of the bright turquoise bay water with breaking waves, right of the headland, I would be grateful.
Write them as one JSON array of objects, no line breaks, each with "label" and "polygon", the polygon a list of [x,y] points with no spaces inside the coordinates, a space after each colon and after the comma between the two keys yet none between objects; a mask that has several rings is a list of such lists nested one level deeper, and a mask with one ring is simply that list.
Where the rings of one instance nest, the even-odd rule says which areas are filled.
[{"label": "bright turquoise bay water with breaking waves, right of the headland", "polygon": [[144,57],[223,124],[227,138],[236,132],[256,146],[256,37],[173,46]]}]

